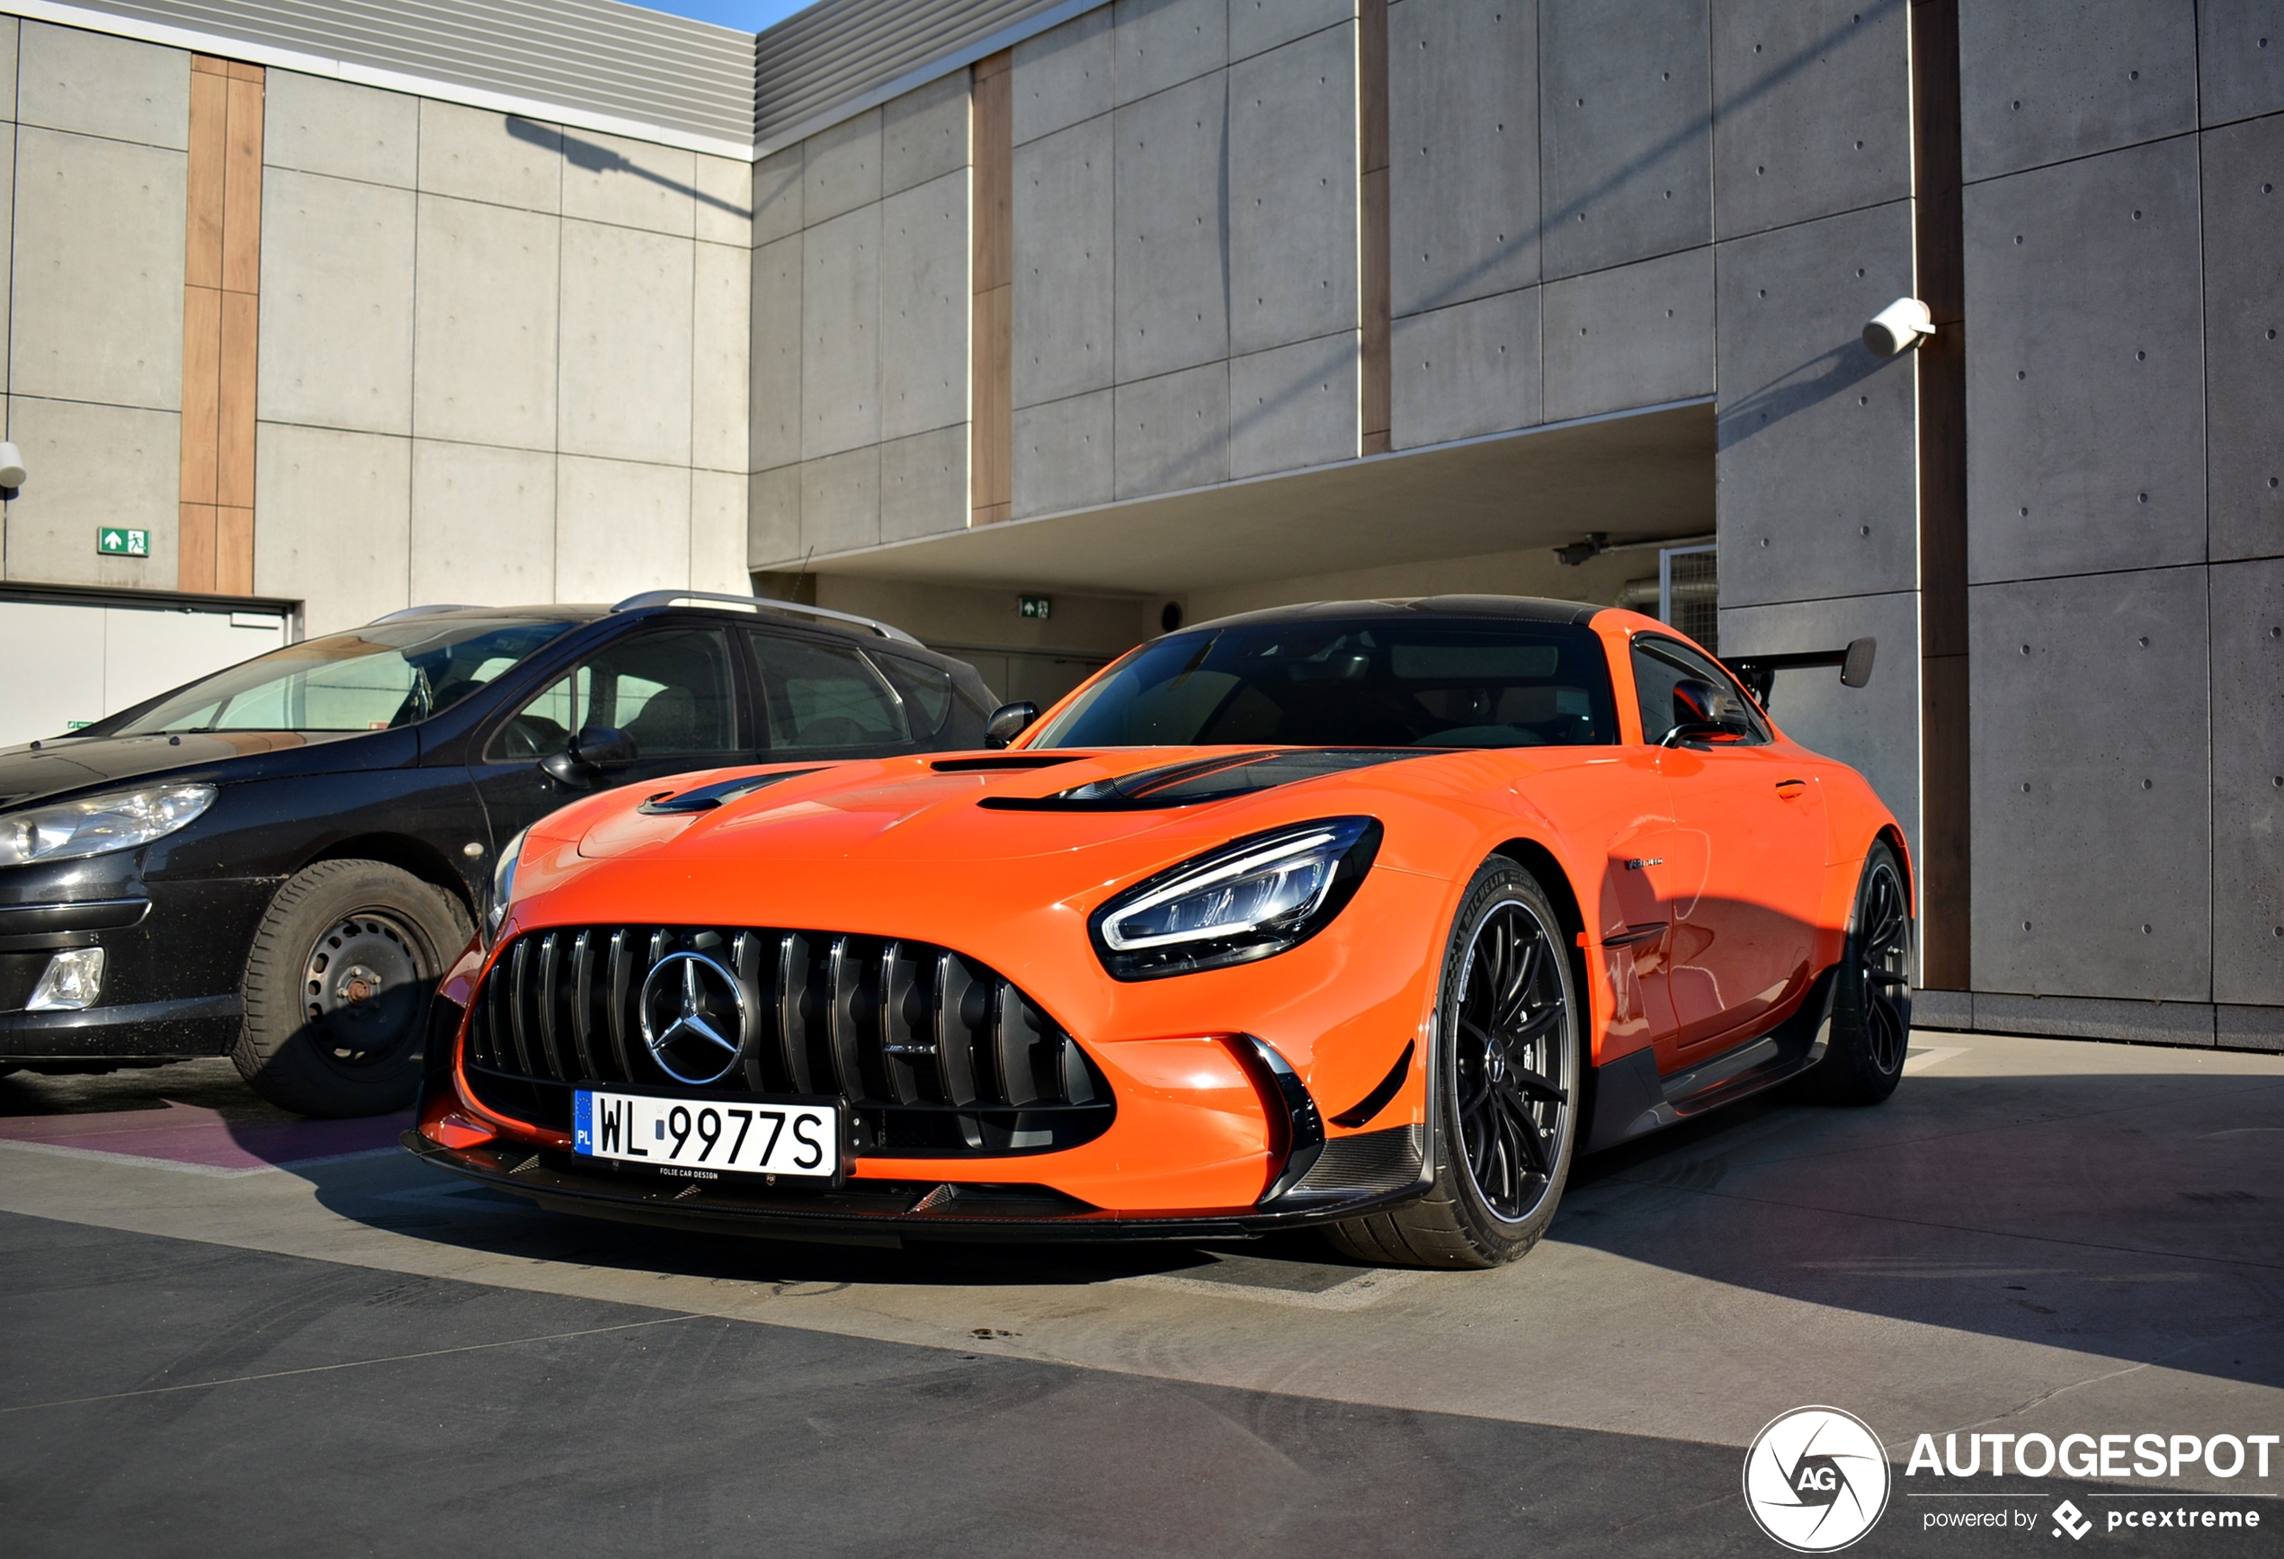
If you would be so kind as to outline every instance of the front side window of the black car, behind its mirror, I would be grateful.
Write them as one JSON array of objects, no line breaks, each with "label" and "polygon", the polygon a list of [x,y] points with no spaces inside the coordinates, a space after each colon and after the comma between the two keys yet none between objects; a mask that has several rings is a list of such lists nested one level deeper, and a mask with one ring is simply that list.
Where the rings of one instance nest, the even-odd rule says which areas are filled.
[{"label": "front side window of the black car, behind its mirror", "polygon": [[486,758],[530,762],[560,753],[587,726],[624,730],[640,758],[738,751],[729,637],[719,628],[674,628],[612,644],[525,703],[500,726]]}]

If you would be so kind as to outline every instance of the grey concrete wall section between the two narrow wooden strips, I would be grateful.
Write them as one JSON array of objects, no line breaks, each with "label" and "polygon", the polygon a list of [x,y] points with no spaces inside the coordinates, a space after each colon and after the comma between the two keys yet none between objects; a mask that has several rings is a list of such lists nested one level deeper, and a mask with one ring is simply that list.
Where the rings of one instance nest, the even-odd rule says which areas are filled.
[{"label": "grey concrete wall section between the two narrow wooden strips", "polygon": [[1121,0],[1014,52],[1014,516],[1357,457],[1345,0]]}]

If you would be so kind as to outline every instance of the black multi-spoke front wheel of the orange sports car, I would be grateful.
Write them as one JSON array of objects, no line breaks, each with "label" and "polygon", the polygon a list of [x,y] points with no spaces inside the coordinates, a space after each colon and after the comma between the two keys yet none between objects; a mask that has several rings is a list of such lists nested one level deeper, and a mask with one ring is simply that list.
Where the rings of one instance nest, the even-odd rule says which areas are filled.
[{"label": "black multi-spoke front wheel of the orange sports car", "polygon": [[1443,952],[1427,1048],[1434,1185],[1329,1226],[1332,1244],[1384,1267],[1498,1267],[1535,1246],[1569,1178],[1583,1034],[1562,918],[1530,872],[1494,856]]}]

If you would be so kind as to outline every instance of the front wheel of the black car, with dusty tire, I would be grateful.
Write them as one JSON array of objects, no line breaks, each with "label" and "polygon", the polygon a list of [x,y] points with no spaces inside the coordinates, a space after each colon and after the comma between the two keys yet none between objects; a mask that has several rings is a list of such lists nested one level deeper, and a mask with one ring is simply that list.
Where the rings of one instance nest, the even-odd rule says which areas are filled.
[{"label": "front wheel of the black car, with dusty tire", "polygon": [[297,872],[254,934],[231,1059],[281,1109],[407,1109],[420,1091],[429,995],[468,936],[452,895],[393,865],[320,861]]}]

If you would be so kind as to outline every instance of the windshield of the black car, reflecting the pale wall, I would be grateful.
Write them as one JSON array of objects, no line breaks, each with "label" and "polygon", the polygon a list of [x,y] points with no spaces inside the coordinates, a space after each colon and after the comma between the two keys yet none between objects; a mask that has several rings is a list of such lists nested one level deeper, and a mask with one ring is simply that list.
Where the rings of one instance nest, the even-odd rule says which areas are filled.
[{"label": "windshield of the black car, reflecting the pale wall", "polygon": [[[192,682],[100,735],[388,730],[448,710],[571,623],[409,619],[290,644]],[[96,735],[89,730],[89,735]]]}]

